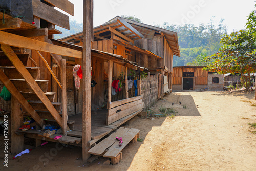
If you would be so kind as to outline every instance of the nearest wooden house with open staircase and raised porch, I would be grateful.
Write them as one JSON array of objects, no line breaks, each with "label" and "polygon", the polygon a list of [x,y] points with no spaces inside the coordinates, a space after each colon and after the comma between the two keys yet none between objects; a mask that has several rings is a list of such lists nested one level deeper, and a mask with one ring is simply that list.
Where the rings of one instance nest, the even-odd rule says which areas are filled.
[{"label": "nearest wooden house with open staircase and raised porch", "polygon": [[[113,47],[110,47],[113,51],[109,52],[97,48],[91,49],[92,45],[95,45],[92,43],[93,0],[84,1],[83,4],[84,41],[81,46],[53,40],[54,34],[61,33],[55,29],[55,25],[69,29],[69,17],[54,9],[58,7],[74,15],[74,5],[68,0],[17,1],[16,5],[20,5],[19,7],[12,7],[8,4],[10,1],[5,1],[6,3],[3,3],[5,6],[2,8],[6,8],[6,11],[24,9],[23,16],[27,16],[26,11],[30,12],[29,18],[26,19],[19,18],[19,10],[16,14],[0,12],[0,86],[1,89],[5,86],[12,94],[11,109],[5,109],[6,113],[4,113],[10,121],[11,153],[17,154],[23,151],[24,137],[29,137],[36,139],[36,146],[39,146],[42,140],[81,146],[84,162],[90,154],[103,155],[103,152],[109,148],[104,157],[112,158],[112,162],[115,163],[121,156],[121,149],[115,153],[112,150],[116,145],[115,137],[111,140],[114,141],[112,146],[96,145],[100,152],[95,148],[92,150],[91,146],[142,111],[144,103],[140,80],[137,81],[136,97],[133,94],[129,95],[127,86],[129,69],[140,71],[138,65],[127,60],[125,55],[113,54]],[[30,19],[33,23],[28,23],[31,22]],[[104,43],[103,46],[102,42],[103,47],[106,48],[108,45]],[[75,64],[80,64],[83,70],[79,90],[74,88],[72,76]],[[110,95],[113,71],[115,71],[113,64],[122,66],[125,71],[123,74],[125,96],[117,101],[113,101]],[[106,82],[103,79],[104,69]],[[97,87],[92,88],[93,75]],[[96,102],[104,101],[104,89],[108,92],[108,96],[106,108],[101,110],[101,105],[98,104],[102,103],[96,104]],[[98,108],[93,109],[95,105]],[[73,115],[79,113],[81,114]],[[31,127],[35,126],[35,129],[20,131],[19,127],[27,117],[35,121],[30,124]],[[45,137],[44,132],[36,131],[49,123],[61,127],[61,138],[55,140],[56,134]],[[137,129],[119,129],[113,136],[118,134],[119,137],[126,137],[125,146],[132,139],[137,140],[138,132]]]}]

